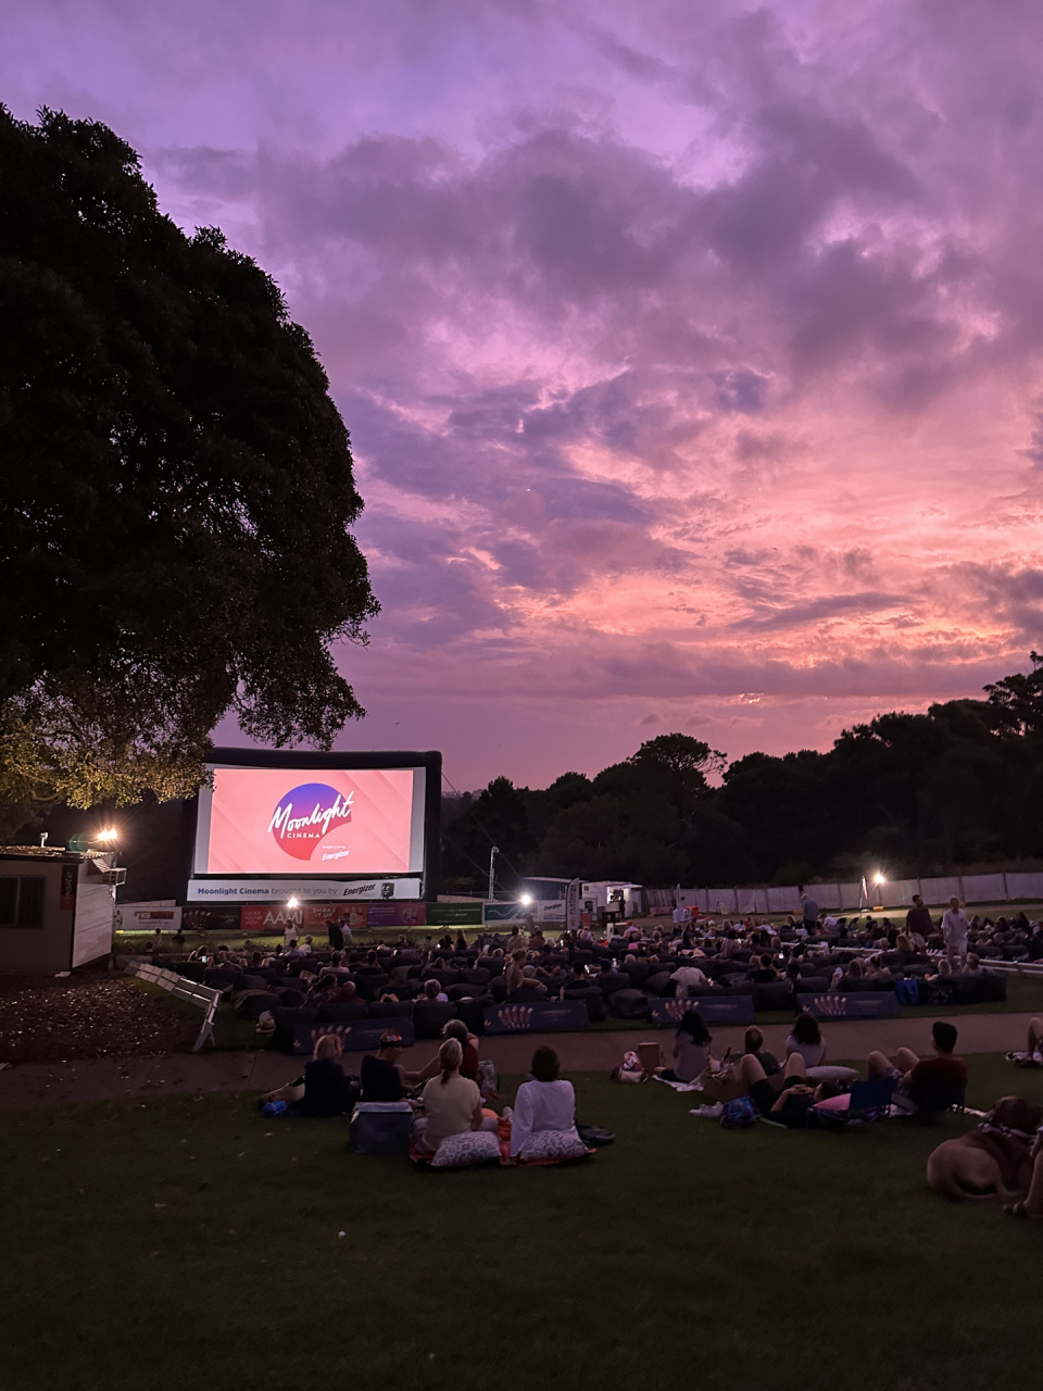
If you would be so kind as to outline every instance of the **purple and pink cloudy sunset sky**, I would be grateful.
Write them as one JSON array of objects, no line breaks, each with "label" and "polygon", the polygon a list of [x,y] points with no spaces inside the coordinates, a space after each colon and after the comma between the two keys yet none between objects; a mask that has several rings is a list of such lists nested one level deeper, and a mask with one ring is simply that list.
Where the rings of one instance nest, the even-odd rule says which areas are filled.
[{"label": "purple and pink cloudy sunset sky", "polygon": [[1040,645],[1039,3],[4,29],[0,100],[114,127],[314,338],[384,605],[342,747],[441,748],[459,787],[672,729],[822,748]]}]

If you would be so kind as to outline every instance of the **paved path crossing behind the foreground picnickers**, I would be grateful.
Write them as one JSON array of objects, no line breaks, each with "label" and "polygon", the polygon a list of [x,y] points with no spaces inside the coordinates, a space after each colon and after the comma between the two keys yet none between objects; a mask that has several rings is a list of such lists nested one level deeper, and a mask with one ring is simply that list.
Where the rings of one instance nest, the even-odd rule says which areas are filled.
[{"label": "paved path crossing behind the foreground picnickers", "polygon": [[[944,1015],[939,1015],[944,1018]],[[960,1029],[958,1053],[1005,1053],[1025,1047],[1029,1014],[965,1014],[954,1018]],[[827,1061],[864,1059],[871,1049],[884,1053],[911,1047],[930,1052],[929,1018],[837,1020],[826,1024]],[[741,1028],[713,1031],[713,1053],[743,1046]],[[765,1046],[782,1057],[789,1032],[786,1024],[763,1027]],[[659,1043],[663,1061],[673,1045],[670,1029],[623,1029],[619,1032],[501,1035],[481,1040],[481,1056],[501,1072],[527,1072],[533,1050],[548,1043],[558,1050],[566,1072],[609,1072],[627,1049],[638,1043]],[[403,1053],[409,1068],[421,1068],[434,1057],[437,1043],[421,1042]],[[349,1072],[357,1072],[363,1054],[345,1054]],[[163,1053],[153,1057],[83,1059],[71,1063],[21,1063],[0,1070],[0,1104],[22,1102],[97,1102],[125,1096],[168,1092],[266,1092],[300,1072],[303,1060],[282,1053]]]}]

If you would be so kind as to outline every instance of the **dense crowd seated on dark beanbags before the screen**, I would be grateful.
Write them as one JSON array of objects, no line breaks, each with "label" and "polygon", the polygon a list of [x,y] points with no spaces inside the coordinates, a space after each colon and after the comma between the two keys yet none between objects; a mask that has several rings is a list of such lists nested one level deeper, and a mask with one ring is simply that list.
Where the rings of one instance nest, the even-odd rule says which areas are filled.
[{"label": "dense crowd seated on dark beanbags before the screen", "polygon": [[220,986],[245,1017],[270,1015],[284,1036],[303,1022],[412,1015],[420,1038],[437,1038],[453,1017],[481,1034],[484,1008],[502,1003],[583,1000],[597,1021],[648,1017],[649,999],[670,996],[745,995],[758,1010],[795,1010],[801,995],[893,992],[900,982],[905,1003],[975,1003],[1005,995],[1005,976],[982,964],[986,951],[1043,958],[1043,932],[1022,914],[971,918],[967,950],[948,957],[941,922],[914,904],[905,922],[652,919],[598,936],[590,926],[545,935],[519,924],[471,942],[462,932],[403,933],[343,950],[298,935],[270,951],[200,947],[171,964]]}]

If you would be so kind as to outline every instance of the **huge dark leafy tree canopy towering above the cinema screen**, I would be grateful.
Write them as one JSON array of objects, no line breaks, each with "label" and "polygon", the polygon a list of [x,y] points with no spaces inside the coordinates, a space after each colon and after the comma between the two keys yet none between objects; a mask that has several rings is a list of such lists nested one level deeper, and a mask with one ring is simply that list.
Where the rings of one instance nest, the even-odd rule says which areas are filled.
[{"label": "huge dark leafy tree canopy towering above the cinema screen", "polygon": [[378,605],[275,282],[107,127],[0,107],[0,803],[191,794],[229,709],[328,746],[363,714],[330,643]]}]

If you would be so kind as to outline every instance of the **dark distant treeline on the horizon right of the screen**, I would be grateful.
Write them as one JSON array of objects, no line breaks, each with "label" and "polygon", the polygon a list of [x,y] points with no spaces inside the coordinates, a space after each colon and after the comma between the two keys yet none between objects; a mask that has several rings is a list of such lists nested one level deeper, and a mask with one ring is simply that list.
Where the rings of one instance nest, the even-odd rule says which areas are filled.
[{"label": "dark distant treeline on the horizon right of the screen", "polygon": [[802,883],[1043,860],[1043,657],[1030,659],[986,700],[879,715],[825,754],[726,764],[661,734],[595,778],[542,790],[495,778],[444,800],[442,887],[484,892],[492,844],[501,889],[523,875]]}]

